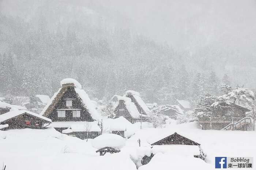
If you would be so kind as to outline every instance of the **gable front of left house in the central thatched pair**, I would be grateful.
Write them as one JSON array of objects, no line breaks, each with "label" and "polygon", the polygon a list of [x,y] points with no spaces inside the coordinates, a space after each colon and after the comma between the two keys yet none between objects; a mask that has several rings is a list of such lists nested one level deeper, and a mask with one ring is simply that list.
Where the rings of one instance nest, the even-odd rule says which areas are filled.
[{"label": "gable front of left house in the central thatched pair", "polygon": [[114,113],[116,114],[116,116],[114,118],[118,118],[120,116],[123,116],[129,122],[134,123],[135,119],[129,113],[129,111],[126,108],[126,105],[124,104],[124,102],[125,102],[124,100],[119,100],[119,104],[117,105],[116,109],[114,110]]}]

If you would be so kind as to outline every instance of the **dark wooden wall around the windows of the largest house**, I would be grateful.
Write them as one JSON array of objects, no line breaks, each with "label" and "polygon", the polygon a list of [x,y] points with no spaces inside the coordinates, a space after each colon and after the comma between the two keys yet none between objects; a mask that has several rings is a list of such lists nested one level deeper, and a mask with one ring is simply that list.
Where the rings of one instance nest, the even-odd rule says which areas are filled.
[{"label": "dark wooden wall around the windows of the largest house", "polygon": [[[72,100],[72,107],[66,106],[66,98],[74,98]],[[66,116],[65,117],[58,117],[57,109],[81,109],[80,110],[80,117],[73,117],[72,110],[65,110]],[[52,121],[93,121],[89,111],[84,107],[80,97],[75,92],[75,88],[73,86],[69,86],[63,97],[59,100],[56,104],[53,111],[48,116]]]}]

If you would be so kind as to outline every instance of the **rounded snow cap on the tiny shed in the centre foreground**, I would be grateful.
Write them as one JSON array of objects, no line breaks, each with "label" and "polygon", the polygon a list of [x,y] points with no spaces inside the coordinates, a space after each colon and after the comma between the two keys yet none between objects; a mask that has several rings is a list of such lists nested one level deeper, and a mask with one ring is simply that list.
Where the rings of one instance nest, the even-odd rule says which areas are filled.
[{"label": "rounded snow cap on the tiny shed in the centre foreground", "polygon": [[124,145],[125,139],[122,136],[116,134],[102,134],[94,138],[92,141],[92,146],[96,149],[112,147],[119,150]]}]

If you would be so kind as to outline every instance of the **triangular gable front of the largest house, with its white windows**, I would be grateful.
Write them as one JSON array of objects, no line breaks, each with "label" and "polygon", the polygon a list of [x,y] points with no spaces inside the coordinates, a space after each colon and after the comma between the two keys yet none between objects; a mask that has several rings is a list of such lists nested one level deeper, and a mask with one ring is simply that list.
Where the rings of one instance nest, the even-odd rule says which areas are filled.
[{"label": "triangular gable front of the largest house, with its white windows", "polygon": [[[58,116],[60,111],[62,111],[62,116]],[[78,116],[73,116],[76,115],[74,112],[77,112]],[[82,99],[76,93],[74,84],[63,85],[44,116],[52,121],[94,121]]]}]

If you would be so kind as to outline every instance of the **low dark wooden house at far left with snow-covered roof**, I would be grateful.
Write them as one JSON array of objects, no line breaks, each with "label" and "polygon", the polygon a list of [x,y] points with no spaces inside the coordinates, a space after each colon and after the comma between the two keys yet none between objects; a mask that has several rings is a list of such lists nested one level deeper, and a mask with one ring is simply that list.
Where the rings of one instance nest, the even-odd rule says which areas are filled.
[{"label": "low dark wooden house at far left with snow-covered roof", "polygon": [[9,129],[45,129],[52,120],[30,111],[11,111],[0,115],[1,130]]}]

